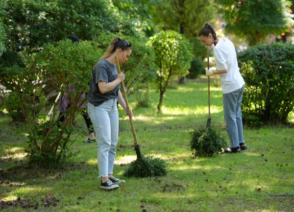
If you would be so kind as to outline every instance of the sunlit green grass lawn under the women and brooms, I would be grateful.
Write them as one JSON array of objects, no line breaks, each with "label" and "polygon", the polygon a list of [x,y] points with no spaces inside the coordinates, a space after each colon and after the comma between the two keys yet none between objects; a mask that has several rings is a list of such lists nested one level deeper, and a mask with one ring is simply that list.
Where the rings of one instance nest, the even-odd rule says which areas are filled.
[{"label": "sunlit green grass lawn under the women and brooms", "polygon": [[[210,90],[212,127],[227,138],[221,88]],[[141,152],[166,160],[168,174],[138,179],[123,176],[128,163],[136,160],[136,153],[128,117],[119,107],[114,176],[126,183],[112,191],[99,188],[97,143],[81,143],[86,135],[73,143],[73,151],[81,153],[69,159],[64,168],[25,168],[25,134],[15,133],[18,126],[10,124],[7,115],[0,116],[0,211],[294,211],[294,128],[245,127],[248,149],[242,154],[195,157],[189,149],[189,133],[206,125],[207,83],[188,82],[169,89],[160,114],[156,113],[158,99],[159,94],[151,89],[149,108],[135,108],[134,96],[128,101]],[[293,116],[290,119],[294,121]],[[81,115],[77,125],[86,128]],[[7,203],[14,206],[4,207]]]}]

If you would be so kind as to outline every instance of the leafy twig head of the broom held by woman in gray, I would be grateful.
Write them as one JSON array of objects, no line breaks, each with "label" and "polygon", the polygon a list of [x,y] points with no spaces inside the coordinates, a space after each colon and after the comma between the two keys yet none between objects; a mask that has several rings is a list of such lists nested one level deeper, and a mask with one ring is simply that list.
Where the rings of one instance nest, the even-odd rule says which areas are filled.
[{"label": "leafy twig head of the broom held by woman in gray", "polygon": [[168,173],[169,165],[161,158],[154,156],[144,156],[132,161],[128,168],[124,170],[126,177],[159,177]]}]

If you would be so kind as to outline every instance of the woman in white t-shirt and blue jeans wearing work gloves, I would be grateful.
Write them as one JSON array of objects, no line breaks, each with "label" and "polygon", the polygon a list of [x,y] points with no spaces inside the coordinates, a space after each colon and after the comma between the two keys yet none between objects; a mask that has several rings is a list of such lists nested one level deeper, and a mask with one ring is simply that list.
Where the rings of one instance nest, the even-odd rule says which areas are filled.
[{"label": "woman in white t-shirt and blue jeans wearing work gloves", "polygon": [[206,76],[220,74],[223,114],[230,147],[223,153],[241,153],[247,149],[243,138],[241,102],[245,81],[239,71],[234,44],[219,38],[211,24],[206,23],[198,33],[199,40],[214,53],[217,70],[206,70]]}]

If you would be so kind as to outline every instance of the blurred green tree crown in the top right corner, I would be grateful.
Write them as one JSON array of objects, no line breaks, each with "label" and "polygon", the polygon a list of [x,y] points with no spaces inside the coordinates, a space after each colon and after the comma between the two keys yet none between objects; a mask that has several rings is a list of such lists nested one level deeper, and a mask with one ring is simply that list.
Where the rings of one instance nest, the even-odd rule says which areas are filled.
[{"label": "blurred green tree crown in the top right corner", "polygon": [[[243,36],[250,45],[264,41],[268,35],[289,31],[293,25],[290,1],[287,0],[215,0],[225,29]],[[291,26],[290,26],[291,27]]]}]

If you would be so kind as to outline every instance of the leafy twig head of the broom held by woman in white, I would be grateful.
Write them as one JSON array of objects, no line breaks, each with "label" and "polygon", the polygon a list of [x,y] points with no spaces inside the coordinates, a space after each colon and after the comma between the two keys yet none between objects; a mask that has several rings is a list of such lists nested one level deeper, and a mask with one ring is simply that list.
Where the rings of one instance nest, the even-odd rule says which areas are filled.
[{"label": "leafy twig head of the broom held by woman in white", "polygon": [[195,129],[191,133],[190,148],[195,150],[196,155],[211,156],[220,152],[226,147],[226,140],[216,130],[212,128]]}]

